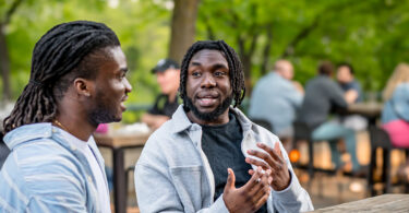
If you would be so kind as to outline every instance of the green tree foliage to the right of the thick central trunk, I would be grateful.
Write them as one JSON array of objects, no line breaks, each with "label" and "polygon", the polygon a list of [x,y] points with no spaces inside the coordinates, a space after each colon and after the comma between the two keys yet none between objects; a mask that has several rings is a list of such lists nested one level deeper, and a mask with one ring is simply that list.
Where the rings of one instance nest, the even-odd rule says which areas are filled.
[{"label": "green tree foliage to the right of the thick central trunk", "polygon": [[408,9],[407,0],[204,0],[197,33],[232,45],[250,85],[272,69],[268,62],[287,58],[301,82],[322,60],[347,61],[364,88],[375,91],[409,61]]}]

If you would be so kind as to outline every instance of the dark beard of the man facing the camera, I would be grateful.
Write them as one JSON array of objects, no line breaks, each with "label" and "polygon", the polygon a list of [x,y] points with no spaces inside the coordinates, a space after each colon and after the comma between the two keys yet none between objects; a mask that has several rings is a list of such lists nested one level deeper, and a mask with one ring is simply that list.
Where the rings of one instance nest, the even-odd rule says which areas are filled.
[{"label": "dark beard of the man facing the camera", "polygon": [[204,120],[204,121],[215,121],[221,114],[224,114],[226,111],[226,109],[229,108],[231,102],[232,102],[233,97],[232,95],[226,97],[220,105],[218,105],[216,107],[215,110],[210,111],[210,113],[202,113],[194,105],[193,105],[193,100],[188,97],[188,96],[184,96],[183,98],[183,103],[184,105],[193,111],[193,114],[201,120]]}]

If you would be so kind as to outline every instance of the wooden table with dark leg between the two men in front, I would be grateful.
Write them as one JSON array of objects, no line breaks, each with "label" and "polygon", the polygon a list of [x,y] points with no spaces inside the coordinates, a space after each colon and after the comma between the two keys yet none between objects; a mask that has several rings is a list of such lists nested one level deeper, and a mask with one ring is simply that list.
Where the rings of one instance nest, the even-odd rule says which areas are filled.
[{"label": "wooden table with dark leg between the two men in front", "polygon": [[94,133],[98,146],[112,150],[113,169],[113,203],[116,213],[127,212],[127,171],[124,168],[124,150],[129,147],[143,147],[152,132],[146,133]]}]

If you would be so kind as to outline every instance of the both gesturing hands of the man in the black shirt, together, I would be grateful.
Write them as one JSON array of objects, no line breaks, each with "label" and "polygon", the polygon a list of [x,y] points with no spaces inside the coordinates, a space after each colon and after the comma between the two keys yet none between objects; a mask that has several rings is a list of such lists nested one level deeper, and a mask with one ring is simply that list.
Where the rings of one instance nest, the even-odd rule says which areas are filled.
[{"label": "both gesturing hands of the man in the black shirt, together", "polygon": [[245,162],[257,167],[250,169],[251,179],[241,188],[234,187],[236,176],[231,168],[228,168],[228,178],[224,190],[222,199],[229,212],[255,212],[268,199],[270,188],[276,191],[286,189],[290,184],[290,174],[279,144],[274,149],[257,143],[257,146],[265,152],[249,150],[248,153],[262,161],[246,157]]}]

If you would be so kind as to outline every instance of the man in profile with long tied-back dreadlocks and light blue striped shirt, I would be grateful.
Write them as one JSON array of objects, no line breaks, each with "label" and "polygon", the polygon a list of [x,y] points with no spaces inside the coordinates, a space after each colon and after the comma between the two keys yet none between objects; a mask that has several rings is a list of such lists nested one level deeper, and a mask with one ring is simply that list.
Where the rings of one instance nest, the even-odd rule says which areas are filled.
[{"label": "man in profile with long tied-back dreadlocks and light blue striped shirt", "polygon": [[92,133],[121,120],[127,71],[117,35],[101,23],[63,23],[37,42],[29,82],[3,123],[11,153],[0,212],[110,212]]}]

